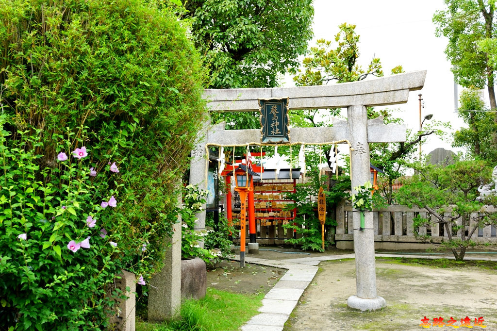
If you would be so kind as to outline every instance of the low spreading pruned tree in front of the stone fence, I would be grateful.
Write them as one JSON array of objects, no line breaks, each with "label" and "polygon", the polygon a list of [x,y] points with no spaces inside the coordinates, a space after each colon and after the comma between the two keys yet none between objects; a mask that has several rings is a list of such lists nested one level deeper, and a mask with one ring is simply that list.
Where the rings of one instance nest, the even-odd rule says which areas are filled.
[{"label": "low spreading pruned tree in front of the stone fence", "polygon": [[[495,213],[483,209],[484,203],[495,207],[496,197],[489,197],[484,202],[477,200],[477,188],[491,181],[492,170],[483,161],[458,161],[446,167],[430,165],[418,170],[422,176],[413,176],[410,183],[398,190],[396,199],[410,208],[413,205],[425,208],[435,217],[434,221],[416,217],[414,229],[430,227],[434,222],[443,226],[447,234],[447,240],[439,244],[430,241],[429,236],[416,235],[420,240],[448,248],[456,260],[463,260],[468,248],[478,246],[471,240],[475,231],[486,225],[497,225]],[[470,215],[476,212],[481,214],[472,218],[475,224],[470,228]],[[458,219],[461,219],[461,225],[457,224]],[[456,236],[459,230],[461,238]]]}]

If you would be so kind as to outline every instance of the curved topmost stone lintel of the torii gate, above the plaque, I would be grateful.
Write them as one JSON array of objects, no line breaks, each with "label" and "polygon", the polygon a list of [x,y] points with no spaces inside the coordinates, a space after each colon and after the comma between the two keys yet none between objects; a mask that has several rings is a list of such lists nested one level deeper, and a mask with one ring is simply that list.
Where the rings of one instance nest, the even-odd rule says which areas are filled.
[{"label": "curved topmost stone lintel of the torii gate, above the plaque", "polygon": [[426,71],[373,80],[319,86],[205,89],[211,111],[257,111],[257,99],[290,97],[290,109],[385,106],[406,103],[409,92],[423,87]]}]

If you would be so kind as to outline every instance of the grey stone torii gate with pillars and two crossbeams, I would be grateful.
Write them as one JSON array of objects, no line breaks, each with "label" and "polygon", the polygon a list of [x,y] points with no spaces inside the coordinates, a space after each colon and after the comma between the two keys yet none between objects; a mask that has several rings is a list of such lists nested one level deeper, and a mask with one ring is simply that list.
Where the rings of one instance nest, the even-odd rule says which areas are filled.
[{"label": "grey stone torii gate with pillars and two crossbeams", "polygon": [[[377,142],[406,141],[405,125],[384,125],[382,119],[367,119],[366,107],[406,103],[409,92],[423,87],[426,71],[398,74],[374,80],[336,85],[206,89],[203,97],[210,111],[258,111],[257,99],[290,97],[289,109],[347,108],[347,121],[333,127],[291,128],[291,142],[326,143],[346,139],[353,147],[351,182],[353,187],[370,180],[369,145]],[[234,145],[260,142],[260,130],[225,130],[221,123],[204,126],[202,138],[192,151],[190,183],[206,189],[207,144]],[[197,229],[205,227],[205,213],[197,215]],[[353,213],[354,252],[357,295],[347,304],[351,308],[376,310],[386,306],[385,299],[376,294],[373,217],[365,213],[365,229],[360,231],[359,213]]]}]

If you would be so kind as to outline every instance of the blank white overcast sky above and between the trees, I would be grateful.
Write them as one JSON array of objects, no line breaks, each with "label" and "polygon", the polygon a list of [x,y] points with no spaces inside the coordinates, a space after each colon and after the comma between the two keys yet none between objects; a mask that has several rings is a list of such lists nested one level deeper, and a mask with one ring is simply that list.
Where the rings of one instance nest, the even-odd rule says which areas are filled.
[{"label": "blank white overcast sky above and between the trees", "polygon": [[[421,116],[433,114],[432,120],[448,121],[455,130],[464,123],[454,113],[453,75],[444,54],[447,41],[435,37],[431,20],[436,10],[444,8],[442,0],[314,0],[314,39],[310,45],[316,45],[320,38],[334,42],[339,24],[355,24],[355,31],[360,35],[358,63],[363,68],[367,68],[369,61],[376,56],[381,60],[385,76],[389,76],[391,69],[398,65],[402,65],[406,72],[427,70],[424,87],[411,92],[408,103],[389,106],[390,109],[399,109],[394,116],[402,117],[408,128],[417,131],[418,94],[421,93],[425,106]],[[284,85],[292,84],[286,77]],[[461,90],[459,86],[458,91]],[[438,147],[457,152],[450,147],[450,141],[442,142],[430,137],[422,145],[423,154]]]}]

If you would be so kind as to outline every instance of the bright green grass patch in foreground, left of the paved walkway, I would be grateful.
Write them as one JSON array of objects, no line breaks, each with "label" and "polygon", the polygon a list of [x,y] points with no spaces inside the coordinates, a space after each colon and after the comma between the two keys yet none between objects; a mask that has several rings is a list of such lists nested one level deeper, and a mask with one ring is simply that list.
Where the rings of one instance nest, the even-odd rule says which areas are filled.
[{"label": "bright green grass patch in foreground, left of the paved walkway", "polygon": [[264,293],[244,295],[207,288],[205,298],[181,305],[181,320],[165,323],[137,322],[137,331],[239,330],[262,306]]}]

